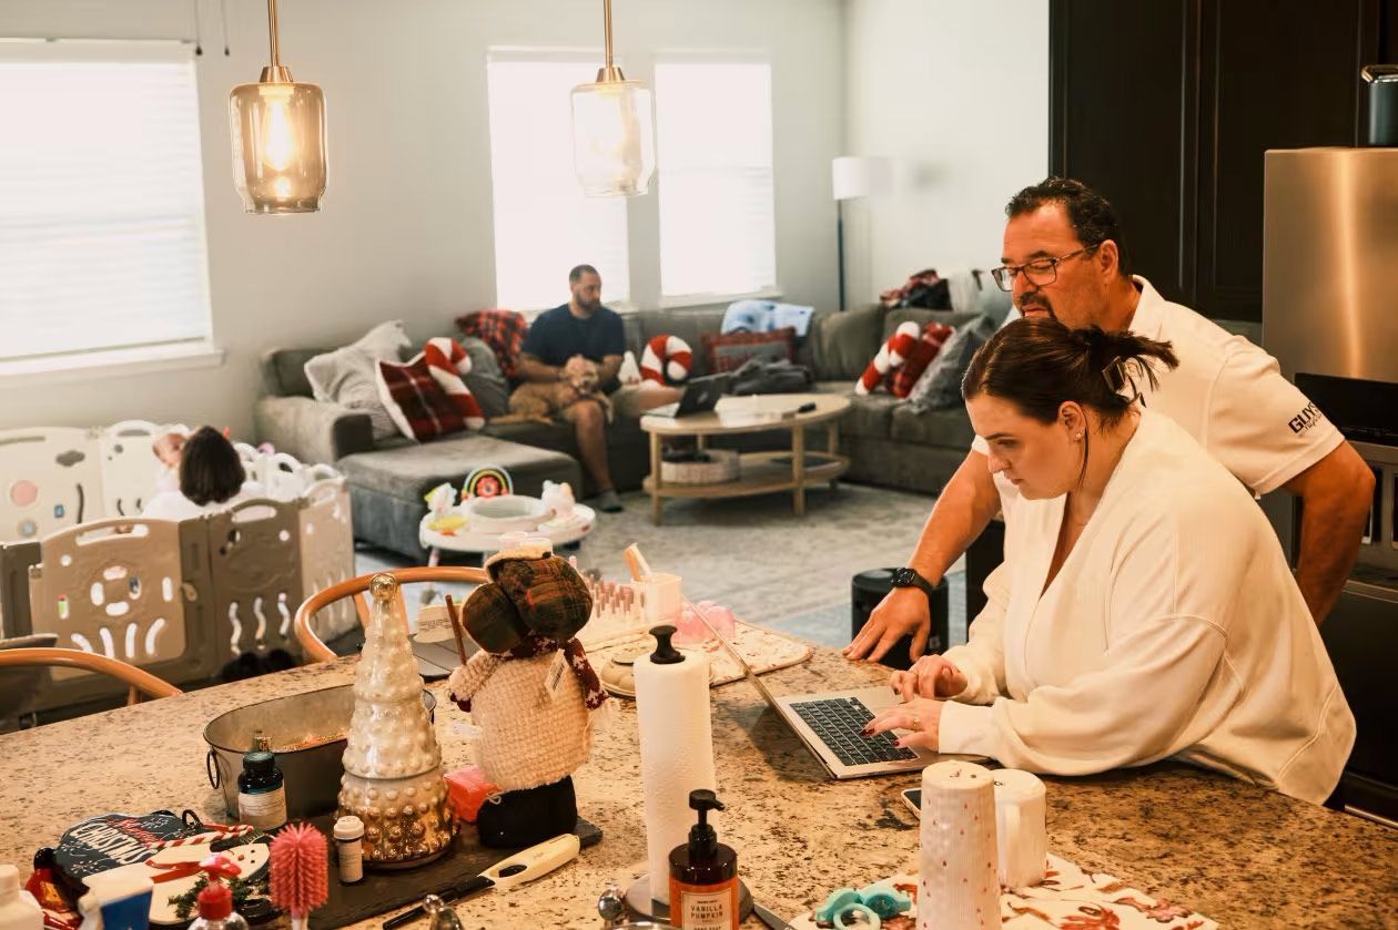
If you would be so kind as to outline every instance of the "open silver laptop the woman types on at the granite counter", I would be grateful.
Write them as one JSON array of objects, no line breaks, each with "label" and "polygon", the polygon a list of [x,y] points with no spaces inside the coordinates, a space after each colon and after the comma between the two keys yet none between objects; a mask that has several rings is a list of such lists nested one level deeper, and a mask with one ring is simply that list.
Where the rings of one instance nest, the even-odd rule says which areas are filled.
[{"label": "open silver laptop the woman types on at the granite counter", "polygon": [[734,658],[738,667],[742,669],[744,677],[752,683],[752,687],[758,688],[762,700],[801,737],[811,754],[836,779],[921,771],[932,762],[953,758],[986,761],[984,755],[934,753],[920,746],[898,747],[893,746],[893,740],[898,739],[895,732],[878,736],[861,735],[860,730],[874,719],[875,714],[898,704],[898,694],[886,686],[773,697],[734,645],[713,628],[703,613],[698,609],[695,613]]}]

